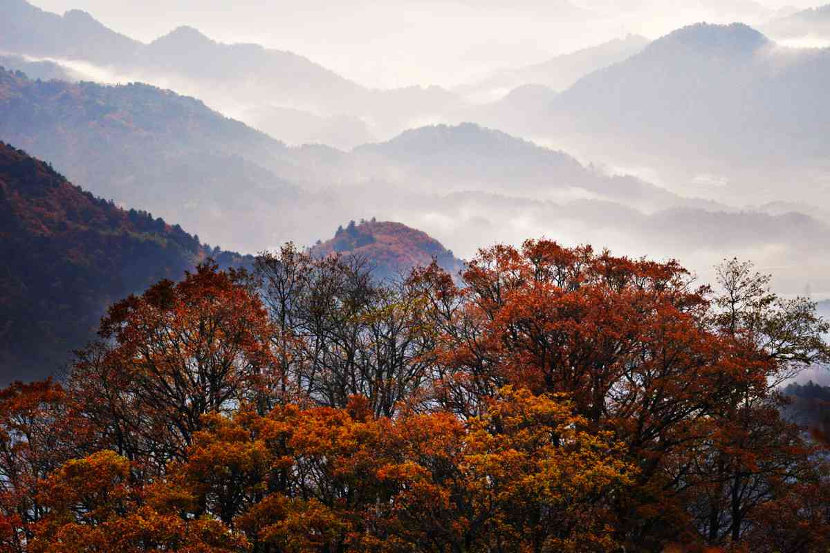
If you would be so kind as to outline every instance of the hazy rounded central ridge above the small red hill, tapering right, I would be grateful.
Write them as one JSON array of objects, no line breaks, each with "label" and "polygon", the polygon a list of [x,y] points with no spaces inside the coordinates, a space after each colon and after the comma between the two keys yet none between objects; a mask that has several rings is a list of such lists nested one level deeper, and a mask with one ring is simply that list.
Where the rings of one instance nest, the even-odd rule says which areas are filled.
[{"label": "hazy rounded central ridge above the small red hill, tapering right", "polygon": [[567,153],[477,124],[408,130],[355,148],[359,167],[390,167],[387,179],[432,192],[484,190],[542,199],[612,199],[652,210],[689,200],[635,177],[608,177]]}]

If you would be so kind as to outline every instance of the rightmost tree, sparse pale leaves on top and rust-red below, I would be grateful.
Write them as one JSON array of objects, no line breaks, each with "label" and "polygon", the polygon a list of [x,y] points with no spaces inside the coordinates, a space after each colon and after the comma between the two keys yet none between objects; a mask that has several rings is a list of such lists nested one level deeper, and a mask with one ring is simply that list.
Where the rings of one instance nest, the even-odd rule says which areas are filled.
[{"label": "rightmost tree, sparse pale leaves on top and rust-red below", "polygon": [[[814,504],[814,497],[830,492],[818,448],[805,439],[803,429],[782,419],[786,401],[777,390],[804,368],[830,360],[822,338],[828,324],[808,299],[772,293],[769,276],[754,272],[748,262],[726,260],[717,275],[715,332],[744,349],[744,368],[752,377],[712,410],[705,447],[696,451],[696,466],[686,482],[691,497],[705,499],[698,504],[690,497],[688,502],[708,543],[735,546],[749,539],[753,551],[767,551],[775,540],[761,536],[769,531],[773,538],[780,529],[768,518],[771,506],[793,507],[797,497]],[[808,501],[796,512],[805,508]],[[830,514],[812,511],[808,518]],[[779,541],[769,551],[810,551],[828,533],[827,521],[811,521],[813,533],[803,532],[795,521],[788,526],[802,539],[794,547]]]}]

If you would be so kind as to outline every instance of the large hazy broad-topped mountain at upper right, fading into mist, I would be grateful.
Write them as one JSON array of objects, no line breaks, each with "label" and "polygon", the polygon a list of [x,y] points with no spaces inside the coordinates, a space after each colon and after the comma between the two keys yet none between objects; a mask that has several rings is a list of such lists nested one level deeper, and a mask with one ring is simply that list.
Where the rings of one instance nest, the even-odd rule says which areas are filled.
[{"label": "large hazy broad-topped mountain at upper right, fading into mist", "polygon": [[[674,183],[723,176],[729,186],[713,194],[730,201],[743,203],[750,189],[762,201],[793,199],[830,169],[828,87],[830,50],[699,24],[584,77],[540,113],[496,123],[623,167],[658,167]],[[800,190],[789,187],[796,174]]]}]

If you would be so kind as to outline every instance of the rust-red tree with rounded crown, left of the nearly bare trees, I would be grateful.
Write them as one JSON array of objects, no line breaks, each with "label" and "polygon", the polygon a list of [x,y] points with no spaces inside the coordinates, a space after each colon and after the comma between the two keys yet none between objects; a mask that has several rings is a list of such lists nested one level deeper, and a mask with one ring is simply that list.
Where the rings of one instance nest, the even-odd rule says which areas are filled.
[{"label": "rust-red tree with rounded crown, left of the nearly bare trees", "polygon": [[203,415],[278,393],[271,334],[247,275],[202,264],[110,308],[105,342],[79,352],[68,377],[71,403],[100,447],[163,470],[183,458]]}]

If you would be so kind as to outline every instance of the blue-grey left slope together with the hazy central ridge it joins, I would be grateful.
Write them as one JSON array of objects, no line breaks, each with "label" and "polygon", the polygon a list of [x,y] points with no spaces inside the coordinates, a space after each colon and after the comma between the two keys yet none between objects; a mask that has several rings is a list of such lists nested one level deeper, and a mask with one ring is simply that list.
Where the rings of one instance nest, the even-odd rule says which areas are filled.
[{"label": "blue-grey left slope together with the hazy central ridge it joins", "polygon": [[380,215],[365,208],[386,192],[388,203],[378,206],[405,207],[394,191],[594,198],[645,210],[697,205],[475,124],[413,129],[351,152],[289,148],[196,99],[149,85],[37,81],[10,71],[0,72],[0,136],[95,194],[247,251],[289,238],[308,243],[323,221]]}]

